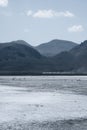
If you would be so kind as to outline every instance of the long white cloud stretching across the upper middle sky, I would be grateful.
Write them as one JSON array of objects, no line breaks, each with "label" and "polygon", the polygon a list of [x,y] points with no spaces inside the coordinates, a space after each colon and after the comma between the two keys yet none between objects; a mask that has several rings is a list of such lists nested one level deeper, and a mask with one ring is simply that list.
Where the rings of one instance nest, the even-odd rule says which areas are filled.
[{"label": "long white cloud stretching across the upper middle sky", "polygon": [[54,10],[38,10],[33,12],[31,10],[27,11],[27,16],[32,16],[34,18],[53,18],[53,17],[74,17],[74,14],[70,11],[58,12]]}]

